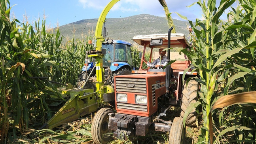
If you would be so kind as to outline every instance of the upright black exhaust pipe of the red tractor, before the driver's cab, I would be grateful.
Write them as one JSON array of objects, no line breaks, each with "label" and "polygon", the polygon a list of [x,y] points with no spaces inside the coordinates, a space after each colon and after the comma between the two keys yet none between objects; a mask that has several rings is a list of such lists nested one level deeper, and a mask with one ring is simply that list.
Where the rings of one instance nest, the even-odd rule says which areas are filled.
[{"label": "upright black exhaust pipe of the red tractor, before the driver's cab", "polygon": [[[173,27],[171,27],[168,31],[168,50],[167,50],[167,58],[170,60],[170,47],[171,47],[171,31],[173,30]],[[170,87],[170,76],[171,76],[171,66],[167,66],[165,70],[165,87],[167,93],[169,93],[169,87]]]}]

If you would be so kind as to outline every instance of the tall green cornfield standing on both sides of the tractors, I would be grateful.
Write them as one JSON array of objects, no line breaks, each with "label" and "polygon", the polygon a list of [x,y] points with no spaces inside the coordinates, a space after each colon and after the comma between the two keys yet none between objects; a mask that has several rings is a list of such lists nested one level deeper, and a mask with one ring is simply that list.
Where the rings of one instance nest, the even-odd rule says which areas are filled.
[{"label": "tall green cornfield standing on both sides of the tractors", "polygon": [[[63,143],[76,139],[92,142],[88,132],[92,116],[83,119],[82,124],[69,123],[70,129],[62,131],[35,130],[66,101],[57,92],[60,85],[50,81],[76,84],[85,51],[93,49],[88,45],[91,36],[72,38],[62,44],[63,36],[58,28],[47,29],[46,19],[39,19],[33,25],[10,20],[9,0],[0,2],[0,143],[15,142],[24,135],[40,143],[48,139]],[[192,4],[198,4],[204,15],[204,19],[195,20],[195,25],[178,14],[189,21],[195,32],[192,48],[181,51],[199,73],[195,78],[201,85],[199,100],[190,106],[196,108],[201,117],[198,120],[203,123],[198,143],[255,143],[255,101],[239,102],[248,98],[245,92],[256,91],[256,2],[238,0],[237,8],[228,13],[228,21],[220,20],[234,2],[221,0],[218,8],[216,0],[199,0]],[[135,59],[138,60],[138,55]],[[230,97],[241,97],[241,101],[218,105],[216,109],[214,104],[219,104],[220,99],[228,102]],[[211,133],[214,138],[210,140]],[[81,138],[78,134],[87,137]]]}]

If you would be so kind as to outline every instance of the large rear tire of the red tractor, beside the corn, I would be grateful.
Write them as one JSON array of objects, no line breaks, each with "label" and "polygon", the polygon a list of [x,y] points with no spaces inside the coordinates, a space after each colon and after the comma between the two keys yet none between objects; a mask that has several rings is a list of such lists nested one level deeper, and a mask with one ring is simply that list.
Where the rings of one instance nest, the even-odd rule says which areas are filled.
[{"label": "large rear tire of the red tractor, beside the corn", "polygon": [[[184,81],[182,87],[182,103],[181,103],[181,113],[180,116],[184,117],[184,114],[189,106],[189,104],[197,101],[197,91],[198,91],[198,82],[195,80],[190,80],[188,85],[186,81]],[[196,126],[196,116],[197,112],[195,108],[190,112],[188,117],[186,118],[186,125],[190,127]]]}]

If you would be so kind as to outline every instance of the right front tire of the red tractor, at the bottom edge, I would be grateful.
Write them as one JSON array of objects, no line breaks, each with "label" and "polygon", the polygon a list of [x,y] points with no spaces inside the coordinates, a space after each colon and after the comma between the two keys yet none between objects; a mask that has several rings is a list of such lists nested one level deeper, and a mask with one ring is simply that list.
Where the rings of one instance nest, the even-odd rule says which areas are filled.
[{"label": "right front tire of the red tractor, at the bottom edge", "polygon": [[171,125],[168,144],[184,144],[186,128],[183,125],[182,117],[175,117]]}]

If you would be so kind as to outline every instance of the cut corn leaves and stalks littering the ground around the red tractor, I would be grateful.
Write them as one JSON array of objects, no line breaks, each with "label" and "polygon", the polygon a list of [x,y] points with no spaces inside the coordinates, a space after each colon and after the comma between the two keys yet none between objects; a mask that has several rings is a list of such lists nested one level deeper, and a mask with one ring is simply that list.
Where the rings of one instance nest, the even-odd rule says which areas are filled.
[{"label": "cut corn leaves and stalks littering the ground around the red tractor", "polygon": [[[110,107],[110,105],[105,105]],[[180,107],[172,106],[167,111],[167,116],[162,117],[164,120],[174,119],[179,116]],[[91,122],[94,117],[94,113],[86,115],[77,121],[66,123],[52,130],[43,129],[35,130],[29,129],[24,131],[22,136],[14,140],[16,144],[94,144],[91,138]],[[199,129],[195,127],[186,127],[186,144],[195,144],[199,135]],[[149,131],[146,136],[138,136],[136,140],[124,141],[124,140],[112,140],[109,144],[168,144],[169,132]]]}]

